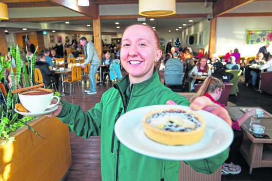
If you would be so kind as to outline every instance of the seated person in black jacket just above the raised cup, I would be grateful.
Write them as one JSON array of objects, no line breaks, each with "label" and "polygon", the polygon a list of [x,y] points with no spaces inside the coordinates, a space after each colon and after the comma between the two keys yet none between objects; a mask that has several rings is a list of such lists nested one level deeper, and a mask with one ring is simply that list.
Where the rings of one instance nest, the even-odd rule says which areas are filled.
[{"label": "seated person in black jacket just above the raised cup", "polygon": [[39,68],[42,74],[43,83],[49,86],[55,82],[56,89],[58,90],[59,75],[55,71],[49,69],[49,64],[45,60],[44,54],[39,54],[36,58],[35,68]]}]

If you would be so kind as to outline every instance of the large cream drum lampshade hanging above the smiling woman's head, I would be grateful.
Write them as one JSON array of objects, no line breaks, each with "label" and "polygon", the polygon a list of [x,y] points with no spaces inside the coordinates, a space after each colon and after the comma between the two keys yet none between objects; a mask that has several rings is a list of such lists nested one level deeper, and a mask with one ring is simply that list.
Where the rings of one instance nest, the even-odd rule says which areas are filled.
[{"label": "large cream drum lampshade hanging above the smiling woman's head", "polygon": [[175,0],[139,0],[139,15],[162,17],[175,14]]}]

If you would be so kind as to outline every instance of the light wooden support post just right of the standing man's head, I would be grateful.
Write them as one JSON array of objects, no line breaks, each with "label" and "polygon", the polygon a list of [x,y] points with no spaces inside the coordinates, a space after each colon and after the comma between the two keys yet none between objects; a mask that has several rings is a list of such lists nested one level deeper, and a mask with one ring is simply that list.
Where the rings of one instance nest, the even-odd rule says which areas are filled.
[{"label": "light wooden support post just right of the standing man's head", "polygon": [[101,22],[99,17],[99,9],[97,8],[98,18],[93,19],[93,29],[94,29],[94,44],[97,49],[97,54],[100,58],[102,58],[102,42],[101,42]]}]

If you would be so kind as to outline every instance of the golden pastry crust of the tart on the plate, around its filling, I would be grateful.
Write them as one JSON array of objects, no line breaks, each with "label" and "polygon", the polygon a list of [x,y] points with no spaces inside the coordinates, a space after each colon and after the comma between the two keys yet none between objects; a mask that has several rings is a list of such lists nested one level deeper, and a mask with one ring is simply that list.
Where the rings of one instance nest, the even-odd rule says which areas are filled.
[{"label": "golden pastry crust of the tart on the plate, around its filling", "polygon": [[[165,112],[165,111],[170,112],[173,110],[193,114],[195,118],[200,122],[200,126],[190,131],[175,132],[175,131],[162,130],[160,128],[153,127],[149,123],[147,123],[147,120],[150,116],[159,112]],[[143,123],[144,133],[147,137],[149,137],[150,139],[158,143],[162,143],[165,145],[192,145],[194,143],[197,143],[203,137],[204,130],[206,127],[206,121],[204,117],[201,116],[200,114],[192,110],[177,109],[177,108],[156,109],[156,110],[150,111],[142,117],[142,123]]]}]

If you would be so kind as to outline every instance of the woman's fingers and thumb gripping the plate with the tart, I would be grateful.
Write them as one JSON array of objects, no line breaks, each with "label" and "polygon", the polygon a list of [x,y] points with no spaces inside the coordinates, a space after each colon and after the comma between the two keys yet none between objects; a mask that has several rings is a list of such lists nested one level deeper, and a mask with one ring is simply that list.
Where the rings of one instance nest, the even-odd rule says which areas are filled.
[{"label": "woman's fingers and thumb gripping the plate with the tart", "polygon": [[[177,105],[174,101],[169,100],[166,102],[167,105]],[[215,114],[216,116],[225,120],[230,126],[232,126],[232,120],[229,116],[229,113],[226,109],[221,106],[213,103],[208,97],[201,96],[197,97],[194,102],[191,103],[190,108],[192,110],[206,110]]]}]

